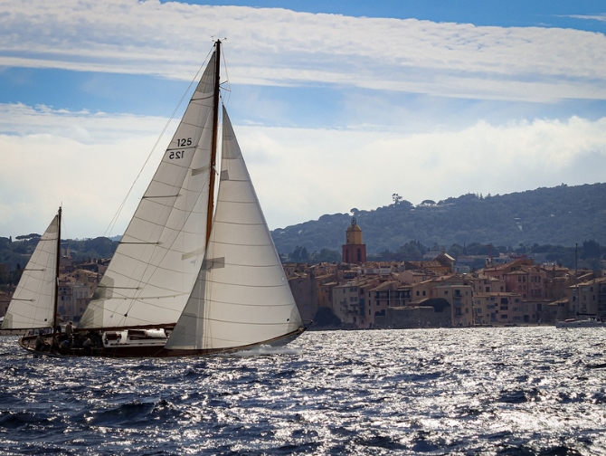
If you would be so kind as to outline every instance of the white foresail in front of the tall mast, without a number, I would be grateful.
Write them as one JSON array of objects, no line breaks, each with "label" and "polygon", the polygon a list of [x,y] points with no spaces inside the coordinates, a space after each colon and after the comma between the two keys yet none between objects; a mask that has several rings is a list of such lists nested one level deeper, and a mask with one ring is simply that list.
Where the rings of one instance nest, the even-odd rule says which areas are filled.
[{"label": "white foresail in front of the tall mast, without a number", "polygon": [[224,108],[221,169],[203,267],[169,349],[247,346],[302,326]]}]

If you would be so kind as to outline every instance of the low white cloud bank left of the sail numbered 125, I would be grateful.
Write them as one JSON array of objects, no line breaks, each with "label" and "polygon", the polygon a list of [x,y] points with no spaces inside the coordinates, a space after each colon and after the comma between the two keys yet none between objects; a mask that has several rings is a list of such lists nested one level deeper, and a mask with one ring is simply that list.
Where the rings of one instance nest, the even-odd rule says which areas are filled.
[{"label": "low white cloud bank left of the sail numbered 125", "polygon": [[[0,135],[0,233],[43,231],[45,217],[50,221],[62,204],[66,236],[104,234],[165,124],[166,119],[0,104],[0,130],[19,132]],[[111,234],[126,227],[152,171],[147,167],[137,181]]]}]

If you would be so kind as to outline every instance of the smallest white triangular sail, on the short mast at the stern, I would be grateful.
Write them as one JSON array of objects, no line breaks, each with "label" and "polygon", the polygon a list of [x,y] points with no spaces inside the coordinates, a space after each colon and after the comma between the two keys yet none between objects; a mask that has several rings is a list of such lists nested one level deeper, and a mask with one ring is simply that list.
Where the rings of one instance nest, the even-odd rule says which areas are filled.
[{"label": "smallest white triangular sail, on the short mast at the stern", "polygon": [[51,328],[57,280],[59,215],[38,241],[27,262],[2,329]]}]

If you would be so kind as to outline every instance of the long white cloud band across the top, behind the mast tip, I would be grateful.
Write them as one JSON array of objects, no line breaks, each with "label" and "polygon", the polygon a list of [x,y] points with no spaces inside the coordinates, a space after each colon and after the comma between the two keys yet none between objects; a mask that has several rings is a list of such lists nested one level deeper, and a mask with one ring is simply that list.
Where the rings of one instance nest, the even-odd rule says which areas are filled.
[{"label": "long white cloud band across the top, behind the mast tip", "polygon": [[[233,82],[355,85],[440,96],[606,99],[606,37],[157,1],[0,0],[0,65],[189,79],[228,38]],[[204,45],[207,42],[208,45]]]}]

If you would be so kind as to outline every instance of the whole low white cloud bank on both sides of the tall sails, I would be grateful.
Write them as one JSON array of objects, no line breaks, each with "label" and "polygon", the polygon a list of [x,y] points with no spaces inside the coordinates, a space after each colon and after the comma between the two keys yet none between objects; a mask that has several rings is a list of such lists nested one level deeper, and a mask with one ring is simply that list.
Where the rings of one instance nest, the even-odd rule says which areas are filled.
[{"label": "whole low white cloud bank on both sides of the tall sails", "polygon": [[[43,231],[60,204],[66,236],[104,234],[165,124],[156,118],[23,105],[0,108],[3,128],[6,119],[15,119],[13,128],[20,129],[20,122],[31,128],[23,135],[0,136],[0,233],[5,236]],[[74,137],[75,129],[82,139]],[[415,204],[468,192],[505,194],[529,185],[599,182],[606,168],[606,118],[507,126],[480,121],[458,131],[417,135],[234,129],[271,228],[351,207],[391,204],[393,193]],[[124,230],[161,153],[159,147],[113,234]]]}]

